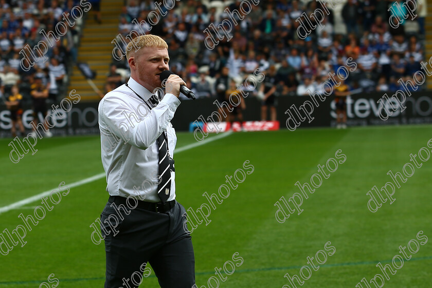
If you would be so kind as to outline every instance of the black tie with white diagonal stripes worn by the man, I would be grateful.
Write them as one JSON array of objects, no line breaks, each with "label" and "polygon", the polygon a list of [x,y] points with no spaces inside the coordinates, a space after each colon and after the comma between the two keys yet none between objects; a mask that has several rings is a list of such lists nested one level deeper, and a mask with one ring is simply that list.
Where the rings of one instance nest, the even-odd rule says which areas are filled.
[{"label": "black tie with white diagonal stripes worn by the man", "polygon": [[[150,97],[150,102],[153,106],[158,104],[156,95]],[[157,147],[159,149],[159,184],[157,186],[157,195],[162,203],[167,202],[170,198],[171,190],[171,169],[168,153],[168,138],[166,130],[157,138]]]}]

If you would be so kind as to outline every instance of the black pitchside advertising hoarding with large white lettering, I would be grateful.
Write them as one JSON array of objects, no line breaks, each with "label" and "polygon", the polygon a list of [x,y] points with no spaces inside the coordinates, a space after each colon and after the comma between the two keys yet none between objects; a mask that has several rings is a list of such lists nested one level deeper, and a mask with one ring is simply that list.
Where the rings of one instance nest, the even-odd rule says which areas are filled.
[{"label": "black pitchside advertising hoarding with large white lettering", "polygon": [[[388,93],[391,95],[391,93]],[[401,113],[400,107],[395,110],[387,120],[379,117],[379,104],[377,101],[382,99],[383,93],[368,93],[352,95],[347,98],[347,124],[349,126],[366,125],[395,125],[395,124],[421,124],[432,123],[432,95],[431,91],[412,92],[404,102],[406,109]],[[280,97],[278,98],[277,120],[281,128],[286,128],[286,120],[289,114],[285,111],[294,105],[297,109],[303,105],[310,97]],[[206,119],[218,108],[213,104],[214,99],[197,99],[195,101],[183,101],[177,108],[175,117],[172,120],[173,126],[177,131],[189,130],[191,122],[198,120],[200,116]],[[246,98],[246,110],[243,112],[245,121],[259,121],[261,104],[257,98]],[[395,104],[395,103],[394,103]],[[91,135],[98,134],[97,118],[98,102],[77,103],[67,112],[67,117],[57,120],[55,129],[51,129],[54,135]],[[24,105],[23,123],[26,129],[30,129],[32,118],[31,105]],[[308,119],[300,122],[296,116],[296,121],[300,123],[298,128],[303,127],[334,127],[336,126],[334,97],[330,96],[319,106],[314,106],[311,113],[311,122]],[[294,112],[295,114],[295,112]],[[301,111],[302,116],[304,113]],[[40,121],[43,120],[42,114],[39,115]],[[216,118],[214,117],[216,120]],[[200,121],[200,120],[198,120]],[[0,137],[10,137],[10,112],[4,104],[0,105]]]}]

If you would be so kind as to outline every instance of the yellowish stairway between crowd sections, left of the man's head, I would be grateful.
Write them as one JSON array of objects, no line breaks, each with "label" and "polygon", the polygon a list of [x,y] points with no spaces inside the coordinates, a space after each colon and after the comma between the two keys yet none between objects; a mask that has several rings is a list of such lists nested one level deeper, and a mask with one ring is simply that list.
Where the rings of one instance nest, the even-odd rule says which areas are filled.
[{"label": "yellowish stairway between crowd sections, left of the man's head", "polygon": [[[112,61],[114,45],[111,43],[118,34],[119,15],[122,1],[102,0],[101,14],[102,24],[94,20],[94,12],[90,10],[81,38],[81,45],[78,48],[78,62],[85,62],[90,69],[96,70],[97,76],[94,84],[103,93],[106,81],[106,74],[109,72]],[[68,91],[75,89],[81,101],[97,101],[99,95],[82,75],[77,66],[74,66],[70,76]]]}]

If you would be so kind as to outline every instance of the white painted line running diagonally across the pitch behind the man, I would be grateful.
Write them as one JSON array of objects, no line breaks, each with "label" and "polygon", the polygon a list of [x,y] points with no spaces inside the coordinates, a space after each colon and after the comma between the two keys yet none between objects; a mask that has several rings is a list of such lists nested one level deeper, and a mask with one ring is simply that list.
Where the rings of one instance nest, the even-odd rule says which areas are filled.
[{"label": "white painted line running diagonally across the pitch behind the man", "polygon": [[[182,151],[185,151],[185,150],[192,149],[192,148],[197,147],[197,146],[201,146],[201,145],[207,144],[207,143],[215,141],[215,140],[219,140],[221,138],[225,138],[225,137],[231,135],[231,133],[232,132],[229,131],[229,132],[226,132],[226,133],[222,133],[221,135],[218,135],[218,136],[214,136],[214,137],[211,137],[211,138],[204,139],[201,142],[196,142],[196,143],[188,144],[186,146],[178,148],[177,150],[175,150],[175,152],[179,153],[179,152],[182,152]],[[80,185],[83,185],[83,184],[86,184],[86,183],[89,183],[89,182],[93,182],[93,181],[99,180],[99,179],[101,179],[103,177],[105,177],[105,172],[99,173],[99,174],[97,174],[95,176],[92,176],[92,177],[89,177],[89,178],[86,178],[86,179],[83,179],[83,180],[80,180],[78,182],[74,182],[72,184],[68,184],[68,186],[69,186],[69,188],[77,187],[77,186],[80,186]],[[26,198],[26,199],[23,199],[21,201],[12,203],[10,205],[4,206],[4,207],[0,207],[0,214],[8,212],[9,210],[16,209],[18,207],[24,206],[26,204],[32,203],[34,201],[40,200],[42,197],[50,195],[51,191],[54,190],[54,189],[56,189],[56,188],[52,188],[51,190],[44,191],[44,192],[42,192],[42,193],[40,193],[38,195],[31,196],[29,198]]]}]

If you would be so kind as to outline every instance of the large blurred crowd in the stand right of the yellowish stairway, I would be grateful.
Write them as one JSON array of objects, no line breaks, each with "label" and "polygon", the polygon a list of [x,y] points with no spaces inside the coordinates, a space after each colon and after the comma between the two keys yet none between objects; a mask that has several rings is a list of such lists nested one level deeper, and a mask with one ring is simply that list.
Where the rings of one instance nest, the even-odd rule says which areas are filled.
[{"label": "large blurred crowd in the stand right of the yellowish stairway", "polygon": [[[259,5],[251,5],[249,13],[241,14],[242,21],[237,17],[239,25],[232,25],[232,39],[227,41],[224,37],[214,49],[206,48],[203,31],[211,23],[218,27],[225,19],[232,23],[223,9],[241,11],[240,3],[180,1],[174,9],[165,9],[167,15],[160,17],[151,31],[147,31],[166,39],[171,69],[186,79],[200,97],[224,97],[218,89],[229,87],[229,80],[224,81],[223,67],[228,67],[228,78],[236,83],[242,83],[259,68],[270,76],[267,80],[276,86],[274,94],[279,96],[308,95],[308,89],[312,93],[322,93],[321,84],[328,80],[330,72],[344,65],[348,57],[352,57],[358,67],[345,84],[356,91],[398,90],[399,79],[412,79],[413,73],[420,69],[425,33],[424,0],[418,2],[417,17],[411,21],[410,17],[405,20],[401,16],[403,22],[396,29],[390,28],[391,10],[387,11],[394,1],[348,0],[337,11],[345,24],[345,33],[335,32],[336,11],[327,3],[330,14],[321,23],[324,27],[311,29],[305,39],[297,34],[299,22],[296,20],[303,12],[311,15],[317,8],[323,11],[321,2],[261,0]],[[398,4],[402,7],[403,3],[399,1]],[[405,7],[402,10],[407,13]],[[147,20],[151,11],[157,11],[152,1],[128,1],[119,17],[119,33],[125,37],[132,30],[139,31],[131,21],[135,18],[138,22]],[[310,21],[316,25],[314,18],[310,17]],[[221,29],[219,33],[224,35]],[[113,58],[112,64],[120,70],[128,70],[124,57],[119,61]],[[116,87],[115,82],[108,81],[106,89]]]}]

